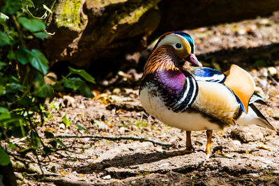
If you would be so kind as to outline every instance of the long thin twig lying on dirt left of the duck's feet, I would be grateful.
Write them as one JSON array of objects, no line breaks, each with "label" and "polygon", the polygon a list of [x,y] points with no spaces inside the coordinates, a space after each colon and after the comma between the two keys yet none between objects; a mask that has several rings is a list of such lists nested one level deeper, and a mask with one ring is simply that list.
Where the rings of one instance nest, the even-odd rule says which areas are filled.
[{"label": "long thin twig lying on dirt left of the duck's feet", "polygon": [[96,138],[96,139],[107,139],[107,140],[112,140],[112,141],[117,141],[117,140],[123,140],[123,139],[130,139],[134,141],[149,141],[153,145],[159,145],[159,146],[172,146],[172,144],[167,144],[164,142],[160,141],[155,141],[153,139],[148,139],[146,137],[106,137],[106,136],[99,136],[99,135],[84,135],[84,136],[76,136],[76,135],[58,135],[56,138]]}]

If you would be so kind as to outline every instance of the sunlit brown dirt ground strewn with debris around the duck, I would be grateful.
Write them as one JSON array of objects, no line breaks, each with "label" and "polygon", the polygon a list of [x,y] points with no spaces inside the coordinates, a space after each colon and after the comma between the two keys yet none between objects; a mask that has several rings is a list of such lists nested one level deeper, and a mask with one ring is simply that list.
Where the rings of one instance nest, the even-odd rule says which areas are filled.
[{"label": "sunlit brown dirt ground strewn with debris around the duck", "polygon": [[[197,54],[260,47],[279,41],[278,17],[275,14],[188,33],[195,39]],[[22,171],[16,170],[17,177],[22,178],[19,182],[22,185],[279,185],[279,65],[278,61],[270,62],[275,67],[250,65],[246,69],[255,79],[257,93],[268,104],[257,107],[277,132],[255,125],[214,131],[212,155],[207,161],[206,134],[193,132],[195,153],[168,155],[186,148],[186,132],[160,123],[144,112],[138,98],[141,73],[131,69],[99,82],[101,86],[93,86],[96,95],[93,99],[65,95],[48,105],[49,118],[41,131],[56,136],[86,137],[58,137],[68,150],[59,150],[49,158],[40,157],[45,178],[38,176],[40,169],[35,167],[25,178]],[[71,125],[62,122],[65,114]],[[75,124],[86,130],[79,130]],[[27,162],[36,160],[27,154]]]}]

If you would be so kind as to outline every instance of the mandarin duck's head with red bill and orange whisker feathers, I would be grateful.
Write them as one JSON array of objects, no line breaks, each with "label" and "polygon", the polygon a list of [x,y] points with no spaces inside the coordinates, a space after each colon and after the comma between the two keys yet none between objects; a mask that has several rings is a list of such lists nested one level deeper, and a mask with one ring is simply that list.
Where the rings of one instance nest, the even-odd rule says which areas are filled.
[{"label": "mandarin duck's head with red bill and orange whisker feathers", "polygon": [[186,70],[190,66],[202,67],[195,56],[195,44],[188,33],[168,32],[160,36],[145,65],[144,74],[156,70]]}]

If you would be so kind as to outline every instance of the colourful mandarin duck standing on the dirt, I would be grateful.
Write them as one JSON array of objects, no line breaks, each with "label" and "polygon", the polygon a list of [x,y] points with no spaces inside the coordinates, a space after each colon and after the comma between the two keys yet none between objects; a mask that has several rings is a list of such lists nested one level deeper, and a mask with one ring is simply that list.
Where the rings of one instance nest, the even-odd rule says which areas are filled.
[{"label": "colourful mandarin duck standing on the dirt", "polygon": [[255,93],[246,70],[232,65],[227,72],[202,67],[188,33],[160,36],[144,65],[140,102],[159,121],[186,130],[186,150],[194,152],[191,131],[206,130],[206,158],[213,130],[231,125],[273,126],[253,102],[265,104]]}]

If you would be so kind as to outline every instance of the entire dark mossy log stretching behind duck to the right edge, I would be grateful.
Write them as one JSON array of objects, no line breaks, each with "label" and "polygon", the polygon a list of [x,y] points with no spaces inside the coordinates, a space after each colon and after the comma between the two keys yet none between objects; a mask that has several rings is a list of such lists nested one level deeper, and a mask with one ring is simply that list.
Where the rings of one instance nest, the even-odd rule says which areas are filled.
[{"label": "entire dark mossy log stretching behind duck to the right edge", "polygon": [[[89,70],[95,76],[117,72],[127,67],[126,62],[131,59],[137,63],[138,52],[166,31],[267,16],[279,9],[277,0],[227,3],[220,0],[38,0],[33,3],[36,8],[30,10],[37,17],[45,13],[43,4],[52,9],[47,32],[54,34],[43,40],[43,45],[36,46],[42,48],[50,64],[70,62],[82,68],[91,66]],[[64,67],[61,65],[57,70],[61,72]]]}]

